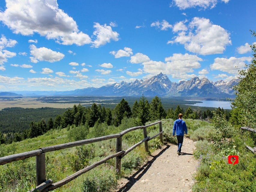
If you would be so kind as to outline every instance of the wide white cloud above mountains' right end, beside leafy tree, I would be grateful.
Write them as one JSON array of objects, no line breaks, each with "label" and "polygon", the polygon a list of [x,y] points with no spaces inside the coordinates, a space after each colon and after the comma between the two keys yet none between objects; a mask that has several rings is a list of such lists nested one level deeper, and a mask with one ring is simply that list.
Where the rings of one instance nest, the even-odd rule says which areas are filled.
[{"label": "wide white cloud above mountains' right end, beside leafy tree", "polygon": [[220,70],[230,74],[237,74],[246,63],[251,61],[251,57],[230,57],[230,58],[215,58],[214,63],[210,65],[211,70]]}]

